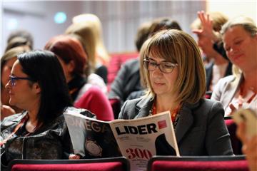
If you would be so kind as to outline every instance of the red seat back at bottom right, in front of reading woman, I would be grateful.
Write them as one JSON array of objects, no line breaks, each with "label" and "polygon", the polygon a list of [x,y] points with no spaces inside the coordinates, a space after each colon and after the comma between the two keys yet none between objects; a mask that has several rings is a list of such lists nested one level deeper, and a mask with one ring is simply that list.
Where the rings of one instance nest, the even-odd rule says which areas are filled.
[{"label": "red seat back at bottom right, in front of reading woman", "polygon": [[235,156],[153,156],[148,161],[148,171],[247,171],[244,155]]}]

